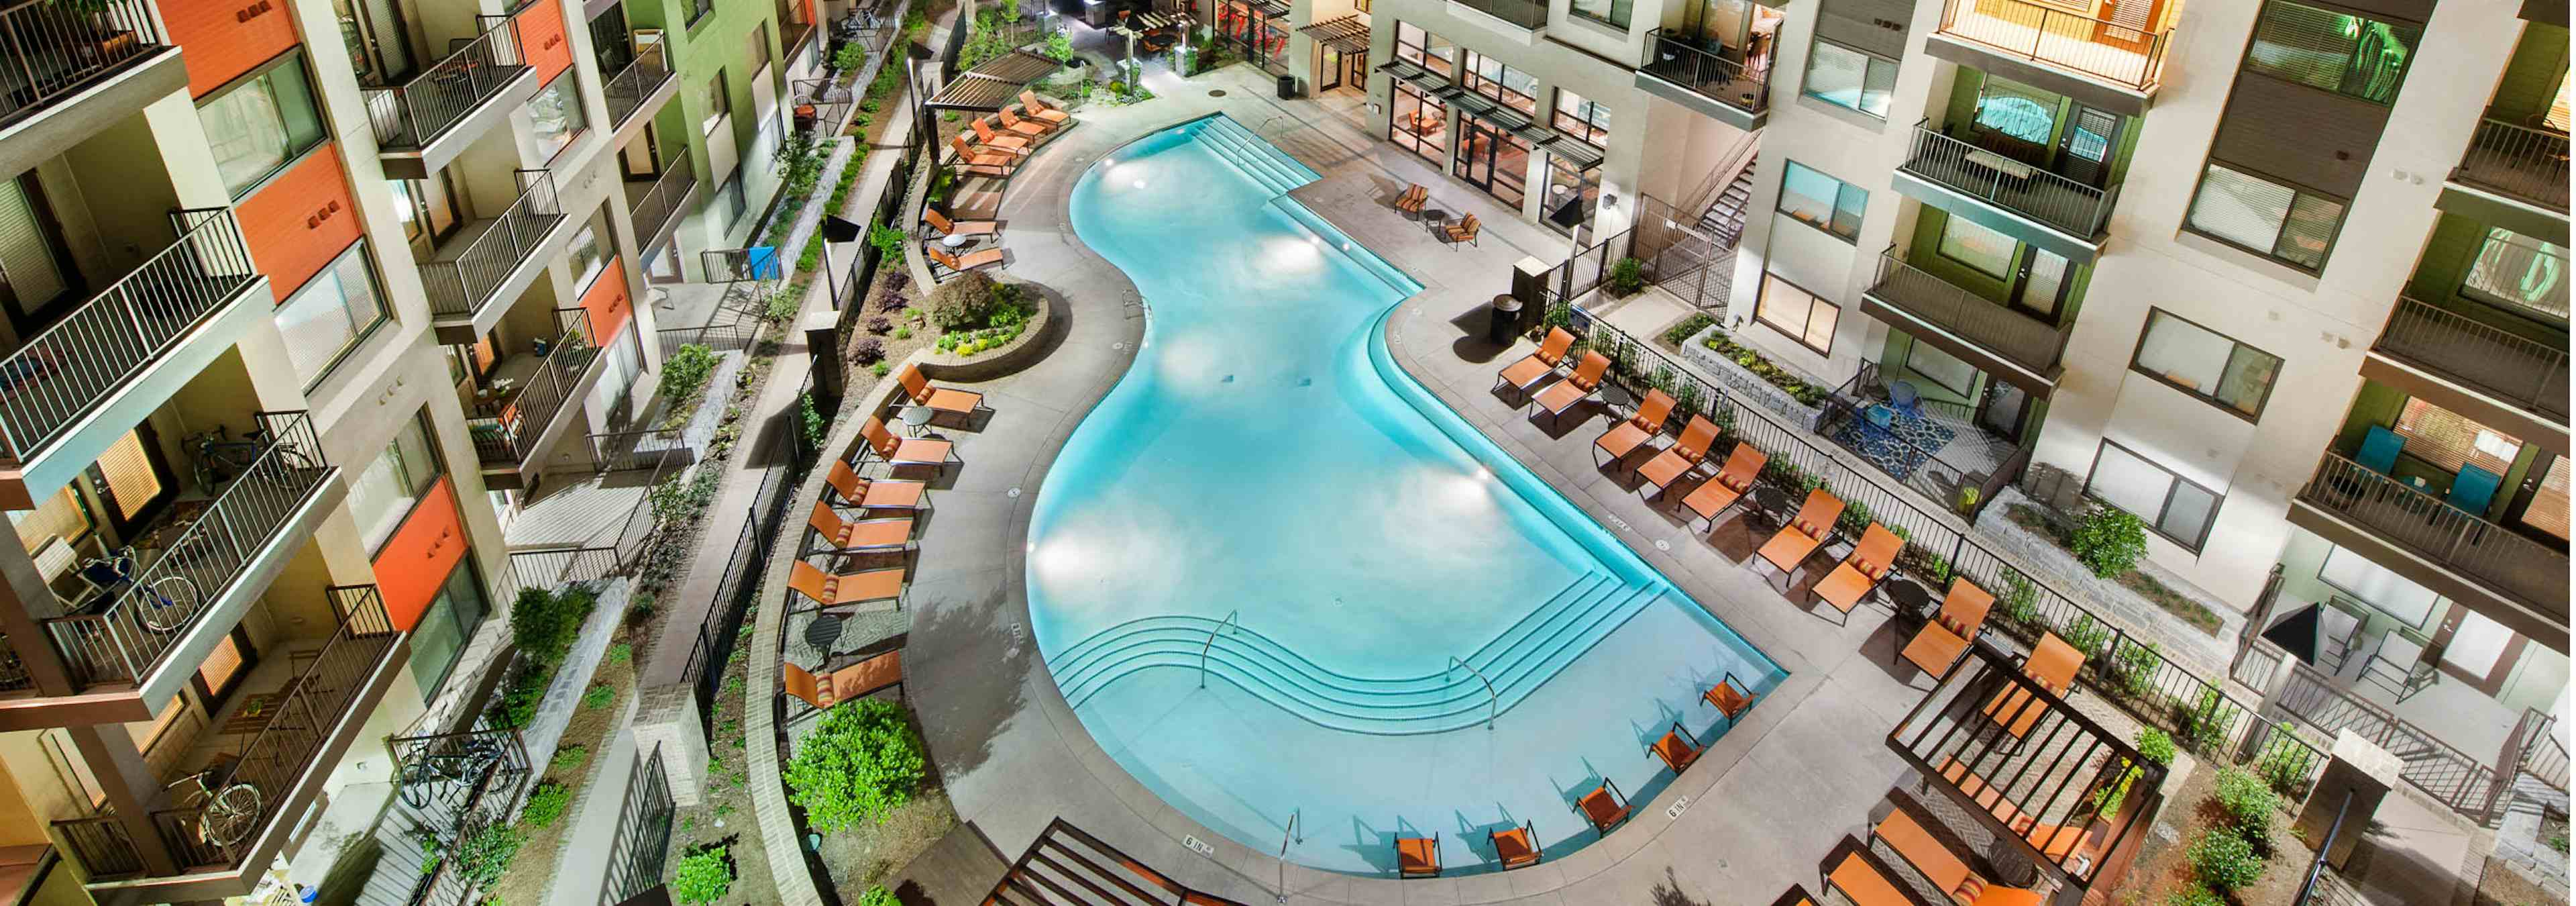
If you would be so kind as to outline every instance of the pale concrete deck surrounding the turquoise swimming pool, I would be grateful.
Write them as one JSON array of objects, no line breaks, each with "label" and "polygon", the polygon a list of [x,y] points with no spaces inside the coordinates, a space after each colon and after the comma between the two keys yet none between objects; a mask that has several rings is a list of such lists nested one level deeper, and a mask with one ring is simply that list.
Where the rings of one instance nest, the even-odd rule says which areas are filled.
[{"label": "pale concrete deck surrounding the turquoise swimming pool", "polygon": [[[1865,607],[1852,625],[1811,615],[1783,597],[1780,579],[1765,582],[1741,566],[1749,553],[1741,530],[1721,530],[1726,551],[1713,548],[1705,533],[1643,504],[1623,476],[1595,468],[1597,414],[1538,425],[1520,414],[1517,399],[1486,391],[1517,350],[1473,337],[1484,327],[1484,301],[1507,288],[1520,257],[1561,260],[1561,237],[1365,136],[1358,95],[1283,103],[1267,93],[1267,77],[1247,67],[1188,82],[1164,75],[1149,88],[1159,95],[1151,103],[1079,111],[1072,134],[1020,167],[999,211],[1010,250],[1005,275],[1061,293],[1072,317],[1061,347],[1043,363],[971,386],[987,394],[994,414],[981,430],[948,432],[961,463],[938,481],[938,510],[925,520],[914,559],[907,695],[958,816],[1005,860],[1061,816],[1180,883],[1244,903],[1280,893],[1288,903],[1767,903],[1793,883],[1819,891],[1819,867],[1834,842],[1865,834],[1886,790],[1906,777],[1883,739],[1922,692],[1906,687],[1911,669],[1888,667],[1896,641],[1883,625],[1886,610]],[[1396,309],[1388,329],[1396,360],[1417,381],[1790,672],[1687,775],[1633,803],[1636,818],[1605,839],[1512,873],[1430,880],[1298,865],[1283,873],[1275,844],[1247,847],[1213,834],[1128,777],[1046,674],[1023,589],[1030,504],[1056,450],[1126,373],[1144,332],[1133,286],[1074,239],[1066,193],[1103,152],[1213,111],[1324,172],[1296,198],[1427,286]],[[1479,214],[1486,221],[1481,247],[1440,245],[1399,216],[1386,198],[1404,183],[1430,185],[1432,201],[1453,214]],[[850,435],[855,420],[845,417],[827,450],[848,448]],[[799,497],[791,512],[799,507],[811,507],[811,497]],[[773,600],[783,569],[783,561],[770,569]],[[778,610],[760,607],[755,654],[775,656]],[[755,669],[747,695],[762,700],[773,690],[775,669]],[[775,785],[775,759],[755,752],[755,772]],[[796,852],[793,826],[775,834],[786,824],[783,806],[762,806],[770,852]],[[1543,837],[1561,839],[1571,826],[1566,816]],[[1213,852],[1193,852],[1185,837]],[[801,873],[778,875],[783,901],[817,903],[804,878],[791,878]],[[963,880],[979,891],[989,883]],[[943,888],[958,885],[951,878]],[[842,891],[842,898],[855,893]]]}]

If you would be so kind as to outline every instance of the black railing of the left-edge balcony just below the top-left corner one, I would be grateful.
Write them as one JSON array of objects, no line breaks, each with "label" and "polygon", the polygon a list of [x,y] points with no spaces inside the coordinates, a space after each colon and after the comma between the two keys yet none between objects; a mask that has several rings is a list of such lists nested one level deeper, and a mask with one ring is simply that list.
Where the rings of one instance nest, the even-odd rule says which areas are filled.
[{"label": "black railing of the left-edge balcony just below the top-left corner one", "polygon": [[178,242],[0,358],[0,453],[33,458],[260,278],[232,208],[173,219]]}]

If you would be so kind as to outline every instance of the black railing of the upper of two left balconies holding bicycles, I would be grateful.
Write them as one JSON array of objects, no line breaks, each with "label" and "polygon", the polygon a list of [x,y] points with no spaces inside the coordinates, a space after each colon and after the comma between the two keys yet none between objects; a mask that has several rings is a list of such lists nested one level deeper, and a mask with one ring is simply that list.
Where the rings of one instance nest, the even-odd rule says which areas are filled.
[{"label": "black railing of the upper of two left balconies holding bicycles", "polygon": [[142,682],[330,476],[304,412],[258,420],[268,448],[106,610],[44,620],[75,685]]}]

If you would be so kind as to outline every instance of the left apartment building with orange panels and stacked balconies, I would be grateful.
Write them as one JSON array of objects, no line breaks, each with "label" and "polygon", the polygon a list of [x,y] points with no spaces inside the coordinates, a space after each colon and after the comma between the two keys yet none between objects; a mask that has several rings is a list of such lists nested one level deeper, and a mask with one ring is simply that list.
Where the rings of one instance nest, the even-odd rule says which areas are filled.
[{"label": "left apartment building with orange panels and stacked balconies", "polygon": [[317,818],[392,795],[386,739],[500,631],[505,517],[649,394],[649,263],[750,232],[811,21],[0,10],[8,893],[222,901],[330,865]]}]

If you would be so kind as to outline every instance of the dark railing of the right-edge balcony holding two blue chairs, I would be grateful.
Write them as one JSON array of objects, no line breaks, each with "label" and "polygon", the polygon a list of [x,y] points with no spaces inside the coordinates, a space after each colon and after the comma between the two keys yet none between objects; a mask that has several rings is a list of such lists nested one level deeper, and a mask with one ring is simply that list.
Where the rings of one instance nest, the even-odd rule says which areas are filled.
[{"label": "dark railing of the right-edge balcony holding two blue chairs", "polygon": [[2370,528],[2388,543],[2488,584],[2540,610],[2566,615],[2568,556],[2504,525],[2445,504],[2360,463],[2326,453],[2298,499]]}]

